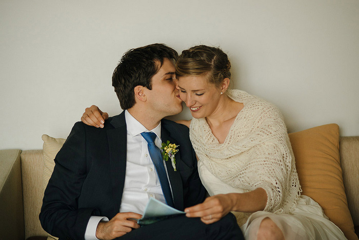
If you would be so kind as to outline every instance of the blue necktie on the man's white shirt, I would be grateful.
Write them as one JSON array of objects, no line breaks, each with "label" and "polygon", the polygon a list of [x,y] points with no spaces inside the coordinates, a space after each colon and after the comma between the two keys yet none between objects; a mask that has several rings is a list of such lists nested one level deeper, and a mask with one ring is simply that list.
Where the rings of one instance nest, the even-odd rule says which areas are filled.
[{"label": "blue necktie on the man's white shirt", "polygon": [[148,152],[150,153],[153,165],[156,169],[159,183],[161,183],[161,188],[165,196],[166,203],[168,206],[174,207],[170,184],[168,182],[165,166],[163,164],[162,154],[159,148],[154,144],[154,139],[156,139],[157,135],[153,132],[143,132],[141,135],[148,143]]}]

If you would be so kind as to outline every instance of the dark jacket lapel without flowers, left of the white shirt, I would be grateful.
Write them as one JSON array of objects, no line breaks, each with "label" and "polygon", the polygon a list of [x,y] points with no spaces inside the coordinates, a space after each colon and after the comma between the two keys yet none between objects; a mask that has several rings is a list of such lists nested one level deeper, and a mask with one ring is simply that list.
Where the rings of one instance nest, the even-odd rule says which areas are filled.
[{"label": "dark jacket lapel without flowers, left of the white shirt", "polygon": [[114,214],[118,213],[121,206],[126,176],[127,128],[124,113],[114,117],[110,124],[115,128],[107,130]]}]

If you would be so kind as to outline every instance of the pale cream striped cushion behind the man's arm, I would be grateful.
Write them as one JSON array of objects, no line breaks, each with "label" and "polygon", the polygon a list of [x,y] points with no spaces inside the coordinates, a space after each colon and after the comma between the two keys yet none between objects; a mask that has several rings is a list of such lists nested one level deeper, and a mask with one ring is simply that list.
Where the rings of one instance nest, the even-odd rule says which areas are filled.
[{"label": "pale cream striped cushion behind the man's arm", "polygon": [[[57,152],[62,148],[65,143],[64,138],[53,138],[46,134],[41,137],[44,141],[43,145],[43,161],[44,161],[44,171],[43,171],[43,188],[46,189],[49,179],[52,175],[52,172],[55,167],[55,156]],[[52,235],[48,235],[47,240],[58,239]]]}]

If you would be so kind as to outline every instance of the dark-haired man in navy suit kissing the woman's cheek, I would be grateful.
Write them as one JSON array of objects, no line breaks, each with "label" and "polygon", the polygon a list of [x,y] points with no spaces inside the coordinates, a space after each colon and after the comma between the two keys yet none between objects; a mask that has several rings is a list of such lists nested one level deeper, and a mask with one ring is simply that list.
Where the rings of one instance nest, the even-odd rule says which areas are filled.
[{"label": "dark-haired man in navy suit kissing the woman's cheek", "polygon": [[[140,227],[150,197],[184,210],[205,198],[188,128],[162,119],[182,111],[177,52],[163,44],[131,49],[112,85],[124,111],[104,129],[78,122],[55,157],[39,215],[60,239],[243,239],[234,216],[206,225],[185,215]],[[161,143],[177,145],[175,166]]]}]

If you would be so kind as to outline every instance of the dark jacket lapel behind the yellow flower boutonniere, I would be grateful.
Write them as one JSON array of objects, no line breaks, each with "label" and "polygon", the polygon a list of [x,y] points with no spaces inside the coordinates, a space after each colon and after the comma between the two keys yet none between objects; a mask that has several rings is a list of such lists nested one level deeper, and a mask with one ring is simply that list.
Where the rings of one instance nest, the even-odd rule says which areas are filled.
[{"label": "dark jacket lapel behind the yellow flower boutonniere", "polygon": [[[161,129],[161,138],[163,143],[167,143],[167,141],[170,141],[170,143],[178,145],[177,141],[175,141],[175,139],[170,137],[170,133],[164,127],[162,127]],[[179,152],[175,155],[175,158],[176,158],[176,166],[179,166],[179,163],[181,162],[181,157],[179,156]],[[168,178],[170,179],[174,207],[176,209],[183,210],[184,203],[183,203],[183,186],[182,186],[181,175],[178,172],[178,168],[177,171],[174,171],[170,159],[166,161],[166,168],[167,168]]]}]

